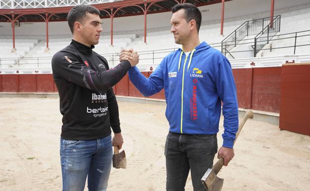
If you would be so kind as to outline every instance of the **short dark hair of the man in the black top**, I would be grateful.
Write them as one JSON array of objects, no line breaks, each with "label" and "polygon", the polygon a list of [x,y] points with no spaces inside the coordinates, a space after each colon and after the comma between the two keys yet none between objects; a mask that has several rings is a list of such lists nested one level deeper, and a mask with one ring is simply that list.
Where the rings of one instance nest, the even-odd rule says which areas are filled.
[{"label": "short dark hair of the man in the black top", "polygon": [[82,22],[83,18],[86,16],[87,13],[100,15],[100,11],[95,6],[92,6],[92,5],[79,4],[79,5],[72,7],[70,12],[68,13],[68,18],[67,18],[72,34],[73,34],[74,23],[76,21]]}]

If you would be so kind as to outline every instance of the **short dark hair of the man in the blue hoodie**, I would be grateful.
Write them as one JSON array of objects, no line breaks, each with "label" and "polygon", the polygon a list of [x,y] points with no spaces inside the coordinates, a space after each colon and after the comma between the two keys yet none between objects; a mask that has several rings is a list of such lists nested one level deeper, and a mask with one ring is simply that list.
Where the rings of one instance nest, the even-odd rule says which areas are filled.
[{"label": "short dark hair of the man in the blue hoodie", "polygon": [[180,9],[184,9],[186,22],[190,22],[193,19],[196,21],[197,31],[199,32],[200,25],[202,24],[202,13],[197,6],[191,3],[176,4],[172,7],[172,12],[175,13]]}]

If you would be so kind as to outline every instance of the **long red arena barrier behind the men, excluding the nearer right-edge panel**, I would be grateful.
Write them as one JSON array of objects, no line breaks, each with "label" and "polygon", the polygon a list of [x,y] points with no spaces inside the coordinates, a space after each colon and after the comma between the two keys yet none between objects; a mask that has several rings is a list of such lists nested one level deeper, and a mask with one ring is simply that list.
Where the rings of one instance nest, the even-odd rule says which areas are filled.
[{"label": "long red arena barrier behind the men, excluding the nearer right-edge panel", "polygon": [[[280,112],[281,67],[242,68],[232,71],[237,87],[239,108]],[[152,72],[142,73],[148,77]],[[2,92],[57,92],[52,74],[2,74],[0,76]],[[144,97],[129,81],[128,75],[125,75],[113,90],[115,95]],[[164,90],[150,98],[165,99]]]}]

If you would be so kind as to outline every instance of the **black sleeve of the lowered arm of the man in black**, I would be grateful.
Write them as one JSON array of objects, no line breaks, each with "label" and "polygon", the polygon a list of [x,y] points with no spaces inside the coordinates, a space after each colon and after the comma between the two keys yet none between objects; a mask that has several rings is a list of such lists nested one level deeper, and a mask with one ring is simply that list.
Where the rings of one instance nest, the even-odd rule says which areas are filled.
[{"label": "black sleeve of the lowered arm of the man in black", "polygon": [[111,128],[114,133],[119,133],[121,132],[121,129],[119,123],[118,105],[113,89],[112,88],[108,89],[106,94],[107,94],[107,104],[108,104]]}]

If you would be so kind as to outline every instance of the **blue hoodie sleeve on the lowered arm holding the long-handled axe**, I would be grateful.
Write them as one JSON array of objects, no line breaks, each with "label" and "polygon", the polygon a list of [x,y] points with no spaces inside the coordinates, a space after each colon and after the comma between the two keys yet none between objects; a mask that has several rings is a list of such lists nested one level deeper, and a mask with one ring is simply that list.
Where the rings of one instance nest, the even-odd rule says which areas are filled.
[{"label": "blue hoodie sleeve on the lowered arm holding the long-handled axe", "polygon": [[231,65],[227,59],[218,65],[215,76],[217,93],[223,102],[224,116],[223,146],[233,148],[233,141],[238,131],[238,102],[235,81]]}]

